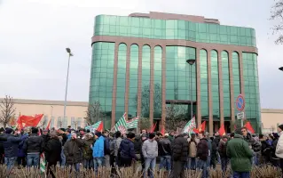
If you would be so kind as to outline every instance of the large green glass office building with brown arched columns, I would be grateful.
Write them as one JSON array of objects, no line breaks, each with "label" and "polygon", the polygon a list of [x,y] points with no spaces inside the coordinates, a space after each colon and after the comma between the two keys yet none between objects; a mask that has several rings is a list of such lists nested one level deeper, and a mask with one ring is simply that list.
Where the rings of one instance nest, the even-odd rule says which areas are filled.
[{"label": "large green glass office building with brown arched columns", "polygon": [[[195,60],[192,66],[189,59]],[[259,132],[255,29],[163,12],[96,17],[90,104],[100,103],[106,128],[124,112],[128,118],[156,120],[161,128],[166,106],[188,107],[189,119],[193,101],[198,125],[207,120],[209,133],[222,124],[229,132],[231,121],[237,120],[240,93],[246,100],[245,117]]]}]

